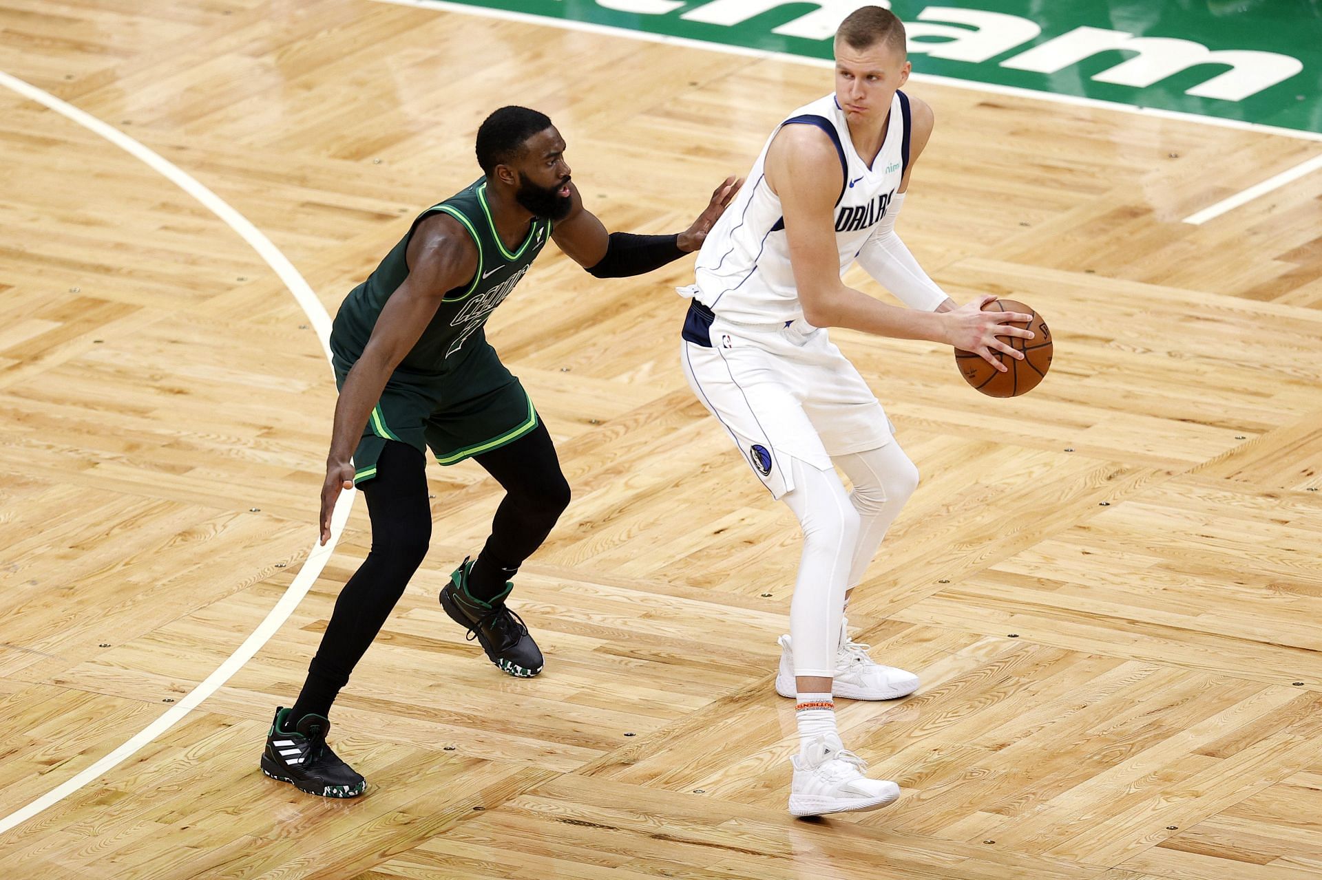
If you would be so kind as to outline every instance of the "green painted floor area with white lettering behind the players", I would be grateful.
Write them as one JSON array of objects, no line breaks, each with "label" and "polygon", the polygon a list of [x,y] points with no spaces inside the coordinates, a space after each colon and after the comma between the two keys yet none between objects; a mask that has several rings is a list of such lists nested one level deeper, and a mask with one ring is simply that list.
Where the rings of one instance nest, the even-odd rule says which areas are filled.
[{"label": "green painted floor area with white lettering behind the players", "polygon": [[[387,0],[390,1],[390,0]],[[405,0],[427,5],[427,0]],[[810,58],[858,0],[452,0]],[[1322,132],[1322,0],[895,0],[914,70]]]}]

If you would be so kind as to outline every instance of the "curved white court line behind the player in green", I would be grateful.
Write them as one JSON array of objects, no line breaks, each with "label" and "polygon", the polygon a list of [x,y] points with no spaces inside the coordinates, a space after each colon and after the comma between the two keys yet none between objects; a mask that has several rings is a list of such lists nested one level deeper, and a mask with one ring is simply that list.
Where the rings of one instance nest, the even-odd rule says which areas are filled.
[{"label": "curved white court line behind the player in green", "polygon": [[[118,128],[112,128],[95,116],[90,116],[89,114],[78,110],[73,104],[30,86],[21,79],[11,77],[4,71],[0,71],[0,85],[12,89],[24,98],[49,107],[61,116],[71,119],[83,128],[100,135],[116,147],[120,147],[126,152],[143,160],[147,165],[168,177],[178,185],[180,189],[200,201],[213,214],[225,221],[225,223],[238,233],[245,242],[253,246],[253,250],[255,250],[258,255],[266,260],[267,266],[275,270],[275,274],[280,276],[284,285],[290,288],[290,292],[293,293],[293,299],[296,299],[299,305],[303,307],[308,320],[316,329],[317,338],[321,340],[321,349],[325,351],[327,359],[330,358],[330,316],[327,314],[325,307],[321,305],[321,300],[317,299],[316,293],[312,292],[312,288],[308,287],[308,283],[303,280],[301,275],[299,275],[299,270],[293,268],[293,264],[290,263],[284,254],[276,250],[275,244],[271,243],[271,239],[253,226],[246,217],[230,207],[219,196],[196,181],[188,173],[180,170],[180,168],[169,160],[152,152]],[[280,601],[278,601],[270,613],[267,613],[266,620],[263,620],[258,628],[253,630],[253,634],[249,636],[243,643],[239,645],[238,649],[206,678],[206,680],[189,691],[184,699],[169,707],[164,715],[148,724],[118,749],[100,758],[82,773],[78,773],[73,778],[66,780],[59,786],[45,793],[25,807],[0,818],[0,834],[4,834],[9,828],[26,822],[46,807],[65,799],[78,789],[107,773],[110,769],[169,728],[175,727],[175,724],[188,715],[190,710],[196,708],[198,703],[214,694],[221,684],[229,680],[234,673],[247,663],[253,655],[256,654],[263,645],[266,645],[267,640],[270,640],[271,636],[280,629],[284,621],[288,620],[290,614],[293,613],[293,609],[297,608],[299,603],[303,601],[303,597],[307,596],[312,583],[321,573],[327,560],[330,558],[330,552],[334,550],[336,542],[340,540],[340,532],[344,531],[345,521],[349,519],[349,511],[353,509],[353,497],[357,493],[353,490],[341,493],[340,501],[330,518],[330,540],[327,542],[325,547],[313,544],[307,562],[303,563],[299,573],[293,577],[293,583],[291,583],[284,591],[284,595],[280,596]]]}]

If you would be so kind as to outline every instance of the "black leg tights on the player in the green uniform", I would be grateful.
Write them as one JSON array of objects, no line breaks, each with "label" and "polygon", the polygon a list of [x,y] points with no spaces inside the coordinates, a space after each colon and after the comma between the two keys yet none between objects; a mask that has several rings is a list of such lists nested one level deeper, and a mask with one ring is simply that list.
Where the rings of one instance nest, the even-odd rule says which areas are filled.
[{"label": "black leg tights on the player in the green uniform", "polygon": [[[542,546],[568,505],[570,488],[561,473],[555,447],[538,422],[518,440],[475,460],[505,489],[496,509],[492,534],[479,566],[504,587],[524,560]],[[405,443],[387,443],[377,460],[377,476],[362,484],[371,519],[371,551],[340,591],[321,646],[308,667],[291,721],[304,715],[328,715],[349,682],[349,674],[381,632],[390,610],[418,571],[431,539],[426,458]],[[508,575],[505,573],[508,572]],[[496,591],[473,592],[494,595]]]}]

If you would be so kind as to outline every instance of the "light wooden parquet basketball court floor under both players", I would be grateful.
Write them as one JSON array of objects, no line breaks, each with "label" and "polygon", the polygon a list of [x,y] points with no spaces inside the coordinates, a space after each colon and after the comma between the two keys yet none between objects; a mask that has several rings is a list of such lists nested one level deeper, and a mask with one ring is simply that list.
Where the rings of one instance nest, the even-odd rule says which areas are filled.
[{"label": "light wooden parquet basketball court floor under both players", "polygon": [[[497,106],[555,120],[608,227],[668,233],[832,90],[777,59],[364,0],[0,0],[0,69],[214,192],[332,314],[477,176]],[[1039,309],[1056,350],[995,400],[948,349],[833,333],[923,473],[850,606],[923,687],[839,711],[898,803],[785,810],[797,526],[680,371],[691,258],[599,281],[549,248],[488,330],[575,493],[513,597],[546,671],[502,675],[438,606],[498,490],[432,465],[428,562],[332,714],[364,798],[258,770],[366,554],[360,498],[270,641],[0,834],[0,873],[1322,877],[1322,173],[1182,222],[1322,144],[908,91],[937,128],[906,242],[960,301]],[[12,89],[0,156],[3,822],[287,595],[334,383],[290,277],[159,168]]]}]

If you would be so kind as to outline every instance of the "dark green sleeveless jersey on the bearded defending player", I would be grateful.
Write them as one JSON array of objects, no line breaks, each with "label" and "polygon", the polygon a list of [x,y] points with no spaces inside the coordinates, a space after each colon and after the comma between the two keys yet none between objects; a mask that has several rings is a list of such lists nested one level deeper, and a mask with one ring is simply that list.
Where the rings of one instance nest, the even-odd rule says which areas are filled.
[{"label": "dark green sleeveless jersey on the bearded defending player", "polygon": [[330,333],[330,349],[342,362],[353,363],[362,354],[386,300],[408,277],[408,239],[418,223],[436,213],[453,217],[473,238],[477,246],[477,271],[473,272],[472,281],[446,293],[435,317],[399,363],[398,369],[406,373],[449,373],[468,353],[485,348],[483,325],[524,277],[551,237],[550,221],[533,219],[524,240],[513,250],[506,248],[496,233],[490,205],[486,202],[485,177],[439,205],[432,205],[414,219],[408,234],[399,239],[368,280],[353,288],[340,305]]}]

